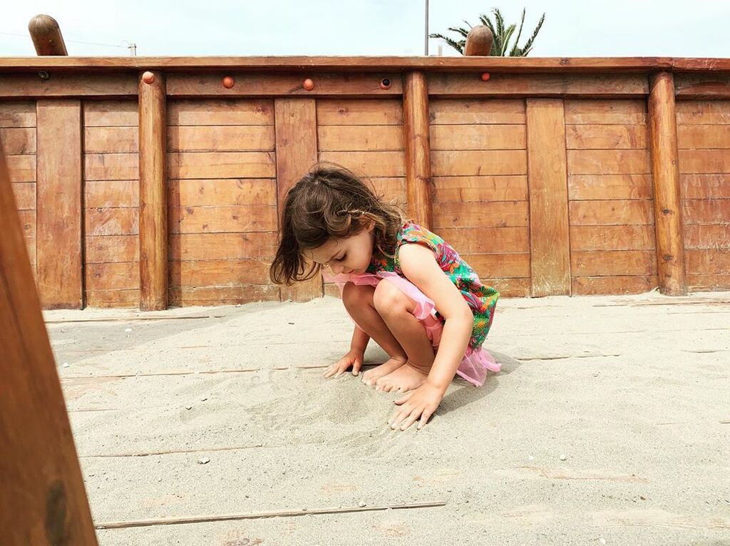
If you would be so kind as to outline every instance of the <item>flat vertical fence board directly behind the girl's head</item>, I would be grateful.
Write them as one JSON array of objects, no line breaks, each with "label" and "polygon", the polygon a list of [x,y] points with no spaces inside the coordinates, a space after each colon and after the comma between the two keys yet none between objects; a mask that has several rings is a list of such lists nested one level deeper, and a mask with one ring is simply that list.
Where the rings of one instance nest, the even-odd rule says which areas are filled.
[{"label": "flat vertical fence board directly behind the girl's head", "polygon": [[[279,222],[286,193],[317,163],[317,104],[315,99],[275,99],[276,178]],[[321,298],[322,277],[281,287],[281,299],[310,301]]]}]

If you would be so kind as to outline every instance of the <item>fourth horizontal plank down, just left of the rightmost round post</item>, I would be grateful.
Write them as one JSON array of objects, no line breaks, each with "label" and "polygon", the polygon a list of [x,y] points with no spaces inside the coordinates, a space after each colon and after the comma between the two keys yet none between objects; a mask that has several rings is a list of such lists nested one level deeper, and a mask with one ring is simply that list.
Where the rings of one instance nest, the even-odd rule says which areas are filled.
[{"label": "fourth horizontal plank down, just left of the rightmost round post", "polygon": [[572,174],[568,177],[571,201],[595,199],[652,199],[651,174]]}]

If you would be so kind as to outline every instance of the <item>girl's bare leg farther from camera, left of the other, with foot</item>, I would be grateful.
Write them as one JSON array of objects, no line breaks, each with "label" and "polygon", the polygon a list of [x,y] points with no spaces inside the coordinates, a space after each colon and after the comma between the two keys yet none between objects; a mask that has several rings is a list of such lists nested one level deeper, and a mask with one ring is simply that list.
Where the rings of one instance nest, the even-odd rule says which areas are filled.
[{"label": "girl's bare leg farther from camera, left of the other, with foot", "polygon": [[377,345],[383,347],[385,353],[388,353],[390,357],[384,364],[380,364],[380,366],[369,369],[362,374],[361,380],[370,386],[374,386],[380,377],[403,366],[408,360],[403,347],[375,310],[373,304],[374,293],[374,286],[355,285],[352,282],[347,282],[345,288],[342,289],[342,303],[345,304],[347,312],[358,323],[358,326],[375,340]]}]

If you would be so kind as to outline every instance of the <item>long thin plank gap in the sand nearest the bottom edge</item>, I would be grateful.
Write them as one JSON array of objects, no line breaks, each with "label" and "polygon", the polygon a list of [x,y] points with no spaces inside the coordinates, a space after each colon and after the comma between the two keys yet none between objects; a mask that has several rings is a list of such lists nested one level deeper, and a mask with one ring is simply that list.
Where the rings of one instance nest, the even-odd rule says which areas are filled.
[{"label": "long thin plank gap in the sand nearest the bottom edge", "polygon": [[128,527],[150,527],[158,525],[181,525],[183,523],[205,523],[210,521],[233,521],[233,520],[253,520],[261,518],[291,518],[300,515],[310,514],[344,514],[348,512],[375,512],[382,510],[404,510],[412,508],[430,508],[442,507],[446,505],[446,501],[431,502],[410,502],[401,504],[381,504],[372,507],[347,507],[347,508],[315,508],[314,510],[272,510],[269,512],[247,512],[243,514],[228,515],[199,515],[190,518],[158,518],[152,520],[131,520],[131,521],[112,521],[108,523],[96,523],[96,529],[118,529]]}]

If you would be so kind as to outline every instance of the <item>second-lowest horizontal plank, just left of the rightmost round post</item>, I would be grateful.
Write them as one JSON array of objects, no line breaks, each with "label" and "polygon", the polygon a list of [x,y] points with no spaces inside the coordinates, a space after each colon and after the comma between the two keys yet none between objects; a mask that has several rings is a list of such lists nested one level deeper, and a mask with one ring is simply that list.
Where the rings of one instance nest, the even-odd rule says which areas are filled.
[{"label": "second-lowest horizontal plank, just left of the rightmost round post", "polygon": [[656,275],[653,250],[573,252],[570,261],[573,277]]}]

